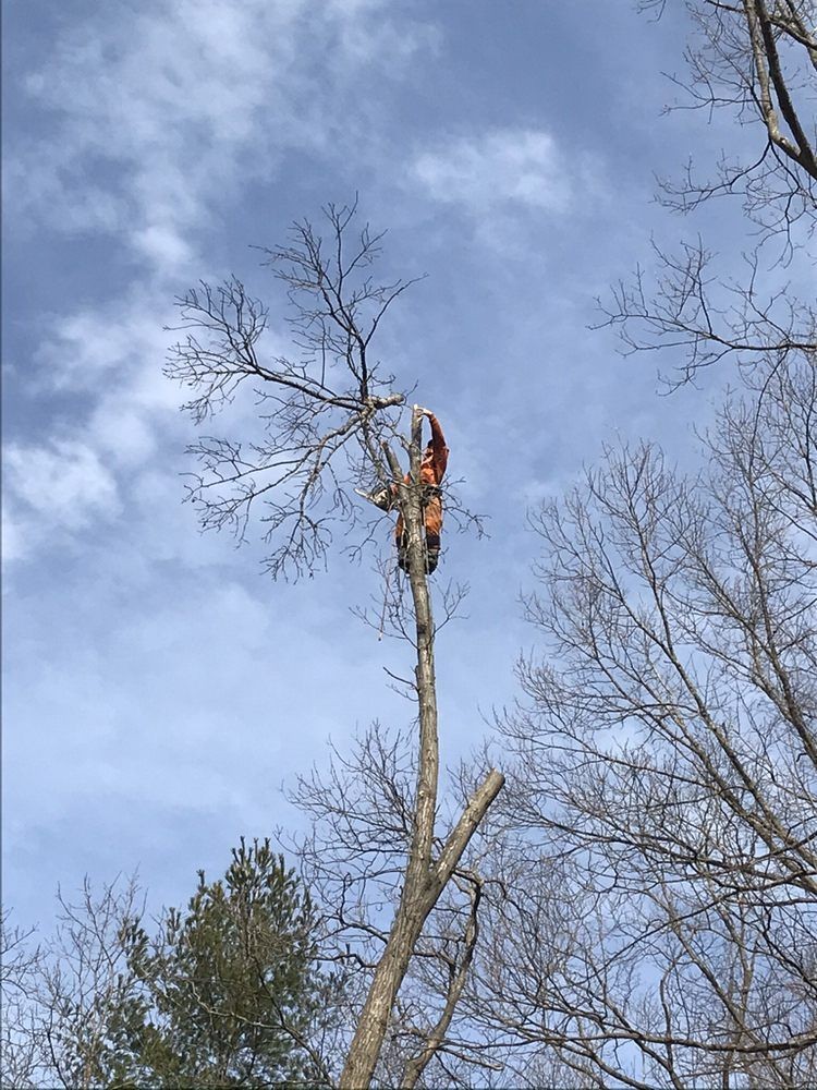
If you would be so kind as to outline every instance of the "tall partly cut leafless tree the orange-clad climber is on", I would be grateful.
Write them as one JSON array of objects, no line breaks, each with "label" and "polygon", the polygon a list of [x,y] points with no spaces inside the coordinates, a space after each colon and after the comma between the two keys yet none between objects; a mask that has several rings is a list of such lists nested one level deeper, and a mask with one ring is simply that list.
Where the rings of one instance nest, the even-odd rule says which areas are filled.
[{"label": "tall partly cut leafless tree the orange-clad climber is on", "polygon": [[[393,1017],[401,984],[418,952],[424,925],[454,877],[475,829],[502,786],[486,770],[447,835],[438,839],[439,744],[435,637],[426,573],[424,493],[420,484],[424,411],[415,405],[408,434],[400,433],[405,390],[395,390],[373,354],[373,339],[389,306],[413,281],[379,284],[371,264],[381,235],[367,227],[354,234],[355,205],[326,210],[329,239],[308,222],[293,228],[290,244],[265,250],[283,282],[292,311],[296,362],[261,353],[267,311],[235,279],[219,288],[202,284],[180,301],[185,337],[173,351],[168,374],[191,387],[186,408],[198,423],[236,397],[247,380],[256,396],[256,437],[241,441],[206,437],[192,453],[199,470],[190,496],[205,528],[231,528],[244,538],[251,514],[260,506],[267,568],[272,576],[300,576],[324,562],[338,530],[351,535],[345,547],[359,550],[371,533],[371,508],[356,504],[354,486],[392,489],[407,533],[407,598],[397,607],[399,628],[414,649],[407,685],[417,704],[414,785],[395,782],[401,827],[390,851],[403,851],[399,895],[390,921],[381,921],[385,942],[356,1018],[342,1087],[369,1086]],[[253,423],[244,422],[246,429]],[[399,452],[407,455],[404,475]],[[455,508],[447,494],[447,507]],[[399,589],[402,591],[402,586]],[[387,592],[388,593],[388,592]],[[401,613],[401,609],[405,609]],[[395,615],[398,615],[395,614]],[[374,738],[375,736],[373,736]],[[388,760],[388,743],[380,758]],[[371,746],[364,756],[375,758]],[[356,766],[359,777],[377,767]],[[340,785],[334,785],[340,789]],[[317,798],[320,795],[316,785]],[[327,800],[325,813],[341,802]],[[339,821],[353,823],[353,813]],[[374,834],[373,834],[374,836]],[[359,841],[361,865],[378,848]],[[467,929],[467,919],[465,922]],[[444,1027],[442,1028],[444,1032]],[[430,1056],[440,1031],[428,1038]],[[427,1061],[426,1061],[427,1062]],[[425,1064],[423,1064],[425,1066]]]}]

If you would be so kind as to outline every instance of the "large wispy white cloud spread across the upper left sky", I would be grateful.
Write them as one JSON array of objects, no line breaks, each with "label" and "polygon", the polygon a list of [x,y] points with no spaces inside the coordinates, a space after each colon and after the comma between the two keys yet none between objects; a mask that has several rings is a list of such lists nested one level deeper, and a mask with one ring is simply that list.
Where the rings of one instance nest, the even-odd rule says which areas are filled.
[{"label": "large wispy white cloud spread across the upper left sky", "polygon": [[175,275],[218,205],[273,177],[288,149],[331,154],[339,136],[353,140],[365,81],[393,80],[432,45],[431,28],[386,0],[106,9],[25,80],[56,132],[19,142],[7,201],[52,229],[110,233]]}]

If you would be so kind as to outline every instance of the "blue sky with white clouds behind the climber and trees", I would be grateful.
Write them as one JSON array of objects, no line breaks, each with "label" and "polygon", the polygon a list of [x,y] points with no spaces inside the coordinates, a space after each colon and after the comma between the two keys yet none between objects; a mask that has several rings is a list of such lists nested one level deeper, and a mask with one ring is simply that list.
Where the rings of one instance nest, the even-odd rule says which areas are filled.
[{"label": "blue sky with white clouds behind the climber and trees", "polygon": [[326,202],[358,193],[389,231],[385,274],[428,274],[378,354],[490,516],[487,540],[446,543],[441,574],[471,596],[438,646],[443,758],[513,698],[526,510],[605,441],[692,458],[715,390],[660,397],[655,359],[589,328],[651,237],[693,230],[654,175],[724,142],[718,119],[661,113],[686,29],[629,0],[7,5],[3,879],[21,921],[85,873],[138,868],[155,905],[179,901],[240,835],[294,821],[281,786],[330,737],[408,715],[383,673],[404,649],[351,613],[377,601],[374,557],[272,583],[181,502],[173,298],[235,272],[280,343],[251,247]]}]

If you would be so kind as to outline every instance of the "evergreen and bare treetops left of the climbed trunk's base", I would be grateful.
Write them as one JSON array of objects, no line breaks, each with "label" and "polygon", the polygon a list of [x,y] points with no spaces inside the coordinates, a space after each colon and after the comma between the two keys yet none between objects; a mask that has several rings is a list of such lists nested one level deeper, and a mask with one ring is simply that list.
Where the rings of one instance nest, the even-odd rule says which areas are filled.
[{"label": "evergreen and bare treetops left of the climbed trunk's base", "polygon": [[58,900],[36,944],[3,921],[3,1086],[326,1085],[340,980],[268,841],[155,921],[135,880]]}]

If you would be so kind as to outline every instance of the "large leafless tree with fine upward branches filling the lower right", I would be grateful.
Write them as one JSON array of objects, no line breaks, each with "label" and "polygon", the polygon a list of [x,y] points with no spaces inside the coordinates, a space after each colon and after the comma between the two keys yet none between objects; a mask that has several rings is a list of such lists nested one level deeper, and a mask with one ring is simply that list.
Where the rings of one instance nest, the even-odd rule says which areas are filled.
[{"label": "large leafless tree with fine upward branches filling the lower right", "polygon": [[770,364],[698,476],[608,450],[534,520],[549,654],[501,725],[505,897],[465,998],[521,1085],[532,1055],[599,1087],[817,1081],[816,419],[814,365]]}]

